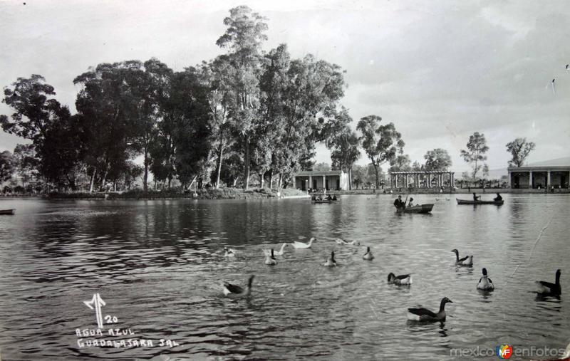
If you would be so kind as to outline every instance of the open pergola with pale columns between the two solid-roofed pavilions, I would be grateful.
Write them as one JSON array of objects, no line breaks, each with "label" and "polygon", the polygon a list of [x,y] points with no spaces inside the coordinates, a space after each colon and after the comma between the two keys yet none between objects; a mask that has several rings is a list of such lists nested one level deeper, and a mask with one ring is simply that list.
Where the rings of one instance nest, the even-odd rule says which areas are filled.
[{"label": "open pergola with pale columns between the two solid-roofed pavilions", "polygon": [[389,184],[392,188],[453,188],[455,172],[409,171],[390,172]]}]

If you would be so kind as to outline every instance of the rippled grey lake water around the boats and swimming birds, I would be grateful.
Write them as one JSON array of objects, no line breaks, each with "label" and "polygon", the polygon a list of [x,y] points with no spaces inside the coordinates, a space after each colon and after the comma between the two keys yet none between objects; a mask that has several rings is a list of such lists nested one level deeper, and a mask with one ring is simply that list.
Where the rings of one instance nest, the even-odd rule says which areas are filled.
[{"label": "rippled grey lake water around the boats and swimming birds", "polygon": [[[503,206],[415,197],[435,204],[427,215],[395,214],[388,195],[337,204],[1,200],[0,209],[17,209],[0,216],[1,358],[425,360],[505,343],[564,348],[570,197],[503,197]],[[261,248],[311,236],[311,249],[287,247],[277,266],[264,265]],[[336,237],[361,246],[339,246]],[[224,245],[237,257],[224,258]],[[366,246],[373,261],[362,259]],[[452,248],[473,254],[474,266],[456,267]],[[339,266],[321,266],[333,250]],[[482,267],[492,293],[475,289]],[[534,281],[554,282],[557,268],[561,298],[529,292]],[[413,273],[414,283],[388,285],[389,272]],[[252,274],[251,297],[224,298],[220,281],[244,285]],[[78,335],[97,329],[83,303],[95,293],[105,302],[103,336]],[[444,296],[453,301],[445,323],[408,322],[408,307],[437,312]],[[108,334],[117,328],[132,334]],[[153,343],[86,345],[128,339]]]}]

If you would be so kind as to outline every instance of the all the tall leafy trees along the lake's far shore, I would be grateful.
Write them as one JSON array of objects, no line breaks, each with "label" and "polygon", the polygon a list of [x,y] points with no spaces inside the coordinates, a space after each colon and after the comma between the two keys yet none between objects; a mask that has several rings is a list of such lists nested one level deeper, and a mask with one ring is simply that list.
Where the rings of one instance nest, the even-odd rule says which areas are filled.
[{"label": "all the tall leafy trees along the lake's far shore", "polygon": [[[156,58],[89,68],[73,79],[80,89],[73,115],[41,75],[18,78],[4,88],[2,101],[14,113],[0,115],[0,125],[29,144],[1,153],[0,182],[17,172],[24,187],[38,178],[71,190],[88,182],[91,192],[107,184],[129,188],[142,177],[147,191],[152,173],[165,187],[176,180],[182,187],[240,182],[248,189],[255,174],[260,187],[286,187],[291,174],[313,167],[318,142],[350,184],[361,149],[376,187],[385,163],[391,171],[451,166],[442,149],[427,152],[425,164],[410,164],[400,132],[378,115],[359,120],[358,135],[340,104],[344,70],[310,54],[291,58],[286,44],[264,51],[266,19],[249,7],[230,9],[224,25],[216,42],[224,53],[182,71]],[[472,137],[462,156],[474,163],[475,177],[485,171],[488,147],[477,132]],[[512,149],[534,149],[525,144]]]}]

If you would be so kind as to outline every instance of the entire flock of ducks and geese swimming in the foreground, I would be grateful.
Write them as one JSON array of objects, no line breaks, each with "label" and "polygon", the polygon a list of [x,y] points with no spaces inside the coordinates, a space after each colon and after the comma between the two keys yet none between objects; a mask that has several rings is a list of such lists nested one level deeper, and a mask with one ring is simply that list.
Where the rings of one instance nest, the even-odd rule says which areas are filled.
[{"label": "entire flock of ducks and geese swimming in the foreground", "polygon": [[[300,241],[294,241],[291,244],[294,248],[302,249],[302,248],[311,248],[313,242],[316,239],[313,237],[309,240],[309,243],[304,243]],[[335,239],[337,244],[346,246],[359,246],[360,243],[358,241],[345,241],[343,239]],[[270,249],[262,249],[265,261],[264,263],[268,266],[275,266],[277,264],[277,260],[275,256],[283,256],[285,247],[289,246],[289,244],[284,243],[281,245],[281,249],[279,251],[274,251],[273,248]],[[455,265],[456,266],[473,266],[473,256],[464,256],[462,258],[459,257],[459,251],[457,249],[452,250],[455,253]],[[224,247],[224,256],[225,257],[234,257],[236,255],[236,251],[232,248]],[[363,260],[365,261],[372,261],[374,259],[374,255],[372,254],[370,247],[366,247],[366,253],[362,256]],[[331,256],[328,256],[326,261],[323,263],[323,266],[326,267],[335,267],[337,266],[336,259],[334,258],[334,251],[331,251]],[[558,297],[561,294],[561,287],[560,287],[560,274],[561,271],[556,271],[556,279],[554,283],[546,282],[546,281],[537,281],[537,294],[542,296],[554,296]],[[242,298],[250,295],[252,292],[252,282],[254,276],[249,276],[249,280],[247,282],[247,286],[242,288],[240,286],[232,285],[230,283],[224,282],[223,283],[223,292],[229,298]],[[404,274],[395,276],[394,273],[388,274],[388,283],[393,284],[396,286],[410,286],[412,284],[412,274]],[[490,292],[494,290],[494,284],[491,281],[487,274],[487,268],[482,269],[482,277],[479,279],[477,283],[477,290]],[[445,321],[445,304],[446,303],[453,303],[447,297],[442,298],[440,303],[440,309],[437,313],[433,312],[432,310],[428,310],[427,308],[408,308],[408,320],[416,320],[420,322],[425,321]]]}]

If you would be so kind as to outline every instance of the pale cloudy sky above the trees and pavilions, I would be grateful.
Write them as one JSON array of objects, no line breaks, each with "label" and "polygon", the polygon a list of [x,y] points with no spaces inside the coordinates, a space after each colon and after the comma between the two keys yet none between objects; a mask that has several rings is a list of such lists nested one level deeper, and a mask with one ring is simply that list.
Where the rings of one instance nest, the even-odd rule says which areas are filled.
[{"label": "pale cloudy sky above the trees and pavilions", "polygon": [[[506,167],[515,137],[537,144],[529,162],[570,155],[568,1],[0,0],[0,86],[43,75],[73,113],[73,78],[88,67],[156,57],[182,70],[214,58],[224,17],[242,4],[268,19],[265,50],[287,43],[295,58],[345,69],[354,127],[371,114],[393,122],[412,160],[440,147],[461,172],[475,131],[491,169]],[[18,142],[0,131],[0,150]]]}]

